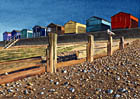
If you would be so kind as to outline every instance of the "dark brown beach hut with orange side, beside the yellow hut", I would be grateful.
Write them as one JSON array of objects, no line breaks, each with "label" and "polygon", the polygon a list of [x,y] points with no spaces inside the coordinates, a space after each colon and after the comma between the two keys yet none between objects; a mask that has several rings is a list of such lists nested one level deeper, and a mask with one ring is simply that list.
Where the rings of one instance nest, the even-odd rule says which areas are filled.
[{"label": "dark brown beach hut with orange side, beside the yellow hut", "polygon": [[64,27],[58,24],[50,23],[47,26],[47,32],[49,33],[57,33],[57,34],[64,34]]}]

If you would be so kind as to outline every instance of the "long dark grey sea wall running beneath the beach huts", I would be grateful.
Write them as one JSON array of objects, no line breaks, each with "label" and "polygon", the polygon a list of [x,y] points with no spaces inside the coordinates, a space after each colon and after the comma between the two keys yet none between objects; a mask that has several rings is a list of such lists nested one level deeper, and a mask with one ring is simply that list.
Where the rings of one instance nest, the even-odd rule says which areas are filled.
[{"label": "long dark grey sea wall running beneath the beach huts", "polygon": [[[124,38],[140,38],[140,28],[135,29],[118,29],[112,30],[116,35],[113,36],[114,39],[118,39],[121,36]],[[65,34],[58,36],[58,43],[72,43],[72,42],[83,42],[87,41],[88,35],[94,35],[95,40],[107,40],[108,34],[106,31],[83,33],[83,34]],[[4,46],[6,42],[1,41],[0,46]],[[48,37],[40,38],[29,38],[21,39],[15,45],[44,45],[48,44]]]}]

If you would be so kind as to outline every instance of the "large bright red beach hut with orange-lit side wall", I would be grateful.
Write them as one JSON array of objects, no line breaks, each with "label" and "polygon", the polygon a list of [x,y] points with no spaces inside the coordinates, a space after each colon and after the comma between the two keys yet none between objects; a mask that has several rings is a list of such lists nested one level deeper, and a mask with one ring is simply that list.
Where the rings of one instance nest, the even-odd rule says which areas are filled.
[{"label": "large bright red beach hut with orange-lit side wall", "polygon": [[136,28],[138,27],[138,18],[129,13],[119,12],[111,17],[112,29]]}]

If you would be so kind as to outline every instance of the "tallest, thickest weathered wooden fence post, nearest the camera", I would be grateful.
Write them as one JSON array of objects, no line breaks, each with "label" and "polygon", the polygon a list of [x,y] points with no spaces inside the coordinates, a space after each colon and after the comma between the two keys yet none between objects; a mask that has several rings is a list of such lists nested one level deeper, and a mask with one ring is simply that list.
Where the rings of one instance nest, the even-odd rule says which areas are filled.
[{"label": "tallest, thickest weathered wooden fence post, nearest the camera", "polygon": [[49,46],[47,52],[47,72],[55,73],[57,65],[57,34],[49,33]]}]

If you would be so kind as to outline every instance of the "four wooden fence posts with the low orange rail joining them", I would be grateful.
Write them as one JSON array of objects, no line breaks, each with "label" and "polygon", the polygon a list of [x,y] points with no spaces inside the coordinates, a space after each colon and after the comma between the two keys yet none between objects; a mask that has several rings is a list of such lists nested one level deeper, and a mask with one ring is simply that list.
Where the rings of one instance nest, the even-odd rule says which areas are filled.
[{"label": "four wooden fence posts with the low orange rail joining them", "polygon": [[[107,43],[107,54],[102,55],[102,56],[111,56],[114,52],[113,48],[113,39],[112,36],[108,37],[108,43]],[[124,37],[120,38],[120,43],[119,43],[119,49],[124,48]],[[88,35],[88,43],[86,47],[86,59],[79,59],[79,60],[70,60],[66,62],[61,62],[57,63],[57,34],[51,33],[49,34],[49,46],[47,49],[47,54],[46,54],[46,60],[47,60],[47,67],[46,71],[50,73],[55,73],[56,68],[59,67],[64,67],[64,66],[69,66],[69,65],[75,65],[78,63],[82,62],[93,62],[94,58],[99,58],[102,56],[94,56],[94,36],[93,35]]]}]

